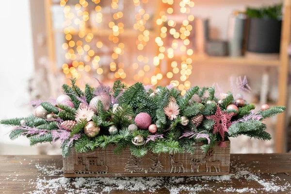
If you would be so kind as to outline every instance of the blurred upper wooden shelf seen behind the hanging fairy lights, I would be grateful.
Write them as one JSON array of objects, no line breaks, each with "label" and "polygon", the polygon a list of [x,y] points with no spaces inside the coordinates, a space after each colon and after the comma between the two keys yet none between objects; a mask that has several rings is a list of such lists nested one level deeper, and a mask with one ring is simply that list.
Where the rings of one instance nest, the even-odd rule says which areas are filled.
[{"label": "blurred upper wooden shelf seen behind the hanging fairy lights", "polygon": [[[73,31],[70,32],[70,34],[78,34],[80,31]],[[111,34],[113,34],[113,31],[111,29],[105,29],[105,30],[94,30],[94,29],[88,29],[85,31],[86,33],[93,33],[94,35],[97,36],[109,36]],[[58,29],[58,30],[53,30],[53,33],[64,33],[64,30]],[[139,35],[142,34],[142,32],[137,31],[137,30],[131,30],[131,29],[127,29],[124,30],[123,33],[119,33],[118,36],[134,36],[134,35]],[[157,33],[155,31],[149,31],[149,35],[150,36],[154,36]]]}]

